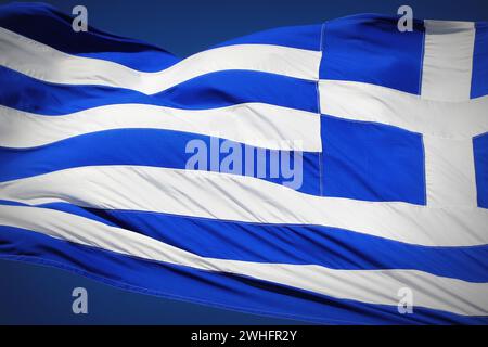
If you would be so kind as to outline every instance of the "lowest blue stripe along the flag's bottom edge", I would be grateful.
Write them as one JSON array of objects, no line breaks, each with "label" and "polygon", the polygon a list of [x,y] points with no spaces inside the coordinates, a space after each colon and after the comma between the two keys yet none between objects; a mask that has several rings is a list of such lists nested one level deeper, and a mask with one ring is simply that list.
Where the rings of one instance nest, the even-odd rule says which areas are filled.
[{"label": "lowest blue stripe along the flag's bottom edge", "polygon": [[413,314],[399,314],[396,306],[337,299],[248,277],[143,260],[10,227],[0,227],[0,257],[62,268],[139,293],[319,323],[488,323],[487,317],[416,307]]}]

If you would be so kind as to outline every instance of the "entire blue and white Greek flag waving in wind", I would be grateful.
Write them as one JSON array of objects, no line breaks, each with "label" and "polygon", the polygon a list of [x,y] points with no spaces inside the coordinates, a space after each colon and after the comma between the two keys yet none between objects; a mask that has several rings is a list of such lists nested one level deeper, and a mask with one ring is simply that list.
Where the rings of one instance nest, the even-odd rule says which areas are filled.
[{"label": "entire blue and white Greek flag waving in wind", "polygon": [[[1,7],[0,258],[317,323],[487,324],[488,23],[397,20],[180,60]],[[192,140],[299,156],[300,184],[189,169]]]}]

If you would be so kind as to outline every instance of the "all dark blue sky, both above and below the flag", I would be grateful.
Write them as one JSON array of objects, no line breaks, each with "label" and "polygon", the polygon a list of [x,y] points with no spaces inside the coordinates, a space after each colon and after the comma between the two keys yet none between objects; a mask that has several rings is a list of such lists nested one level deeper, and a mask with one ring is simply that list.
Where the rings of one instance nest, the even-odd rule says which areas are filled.
[{"label": "all dark blue sky, both above and below the flag", "polygon": [[[11,1],[0,0],[0,4]],[[51,0],[63,12],[84,4],[89,24],[142,39],[179,56],[258,30],[374,12],[396,15],[401,4],[416,18],[488,21],[487,0]],[[201,305],[124,292],[57,269],[0,261],[0,324],[284,324]],[[89,293],[89,314],[72,313],[74,287]]]}]

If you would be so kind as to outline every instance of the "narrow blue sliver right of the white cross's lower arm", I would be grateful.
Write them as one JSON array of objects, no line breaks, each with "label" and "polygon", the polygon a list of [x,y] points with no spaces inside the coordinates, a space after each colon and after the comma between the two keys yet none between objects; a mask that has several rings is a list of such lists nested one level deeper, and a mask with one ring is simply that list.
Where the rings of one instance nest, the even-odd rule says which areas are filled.
[{"label": "narrow blue sliver right of the white cross's lower arm", "polygon": [[488,208],[488,133],[473,139],[478,206]]}]

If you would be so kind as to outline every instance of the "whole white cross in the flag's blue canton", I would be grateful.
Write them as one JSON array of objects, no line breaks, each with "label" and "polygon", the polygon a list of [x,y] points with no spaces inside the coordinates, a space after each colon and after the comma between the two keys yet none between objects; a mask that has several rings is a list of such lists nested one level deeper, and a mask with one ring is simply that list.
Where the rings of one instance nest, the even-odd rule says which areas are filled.
[{"label": "whole white cross in the flag's blue canton", "polygon": [[473,208],[477,206],[473,138],[488,131],[488,98],[470,100],[474,23],[425,21],[425,29],[420,97],[361,82],[321,80],[321,113],[422,133],[427,205]]}]

